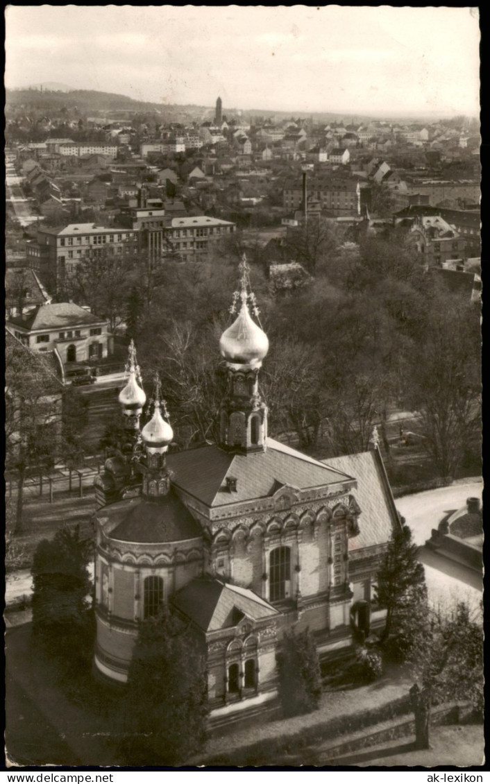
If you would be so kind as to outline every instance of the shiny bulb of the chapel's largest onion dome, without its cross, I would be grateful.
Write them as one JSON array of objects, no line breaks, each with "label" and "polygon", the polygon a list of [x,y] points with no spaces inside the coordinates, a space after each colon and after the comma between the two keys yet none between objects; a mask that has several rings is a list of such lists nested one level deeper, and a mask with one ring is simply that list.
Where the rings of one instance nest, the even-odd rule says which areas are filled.
[{"label": "shiny bulb of the chapel's largest onion dome, without its cross", "polygon": [[266,333],[253,321],[247,304],[243,303],[238,317],[220,338],[221,356],[237,365],[256,364],[268,350]]}]

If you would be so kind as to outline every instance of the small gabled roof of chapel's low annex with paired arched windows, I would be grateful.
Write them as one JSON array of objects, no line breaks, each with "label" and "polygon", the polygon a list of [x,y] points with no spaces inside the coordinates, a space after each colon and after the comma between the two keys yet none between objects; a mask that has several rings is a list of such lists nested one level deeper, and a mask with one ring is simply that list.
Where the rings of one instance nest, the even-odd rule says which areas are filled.
[{"label": "small gabled roof of chapel's low annex with paired arched windows", "polygon": [[206,577],[191,580],[171,601],[205,632],[233,628],[244,616],[258,620],[279,615],[278,610],[253,591]]}]

